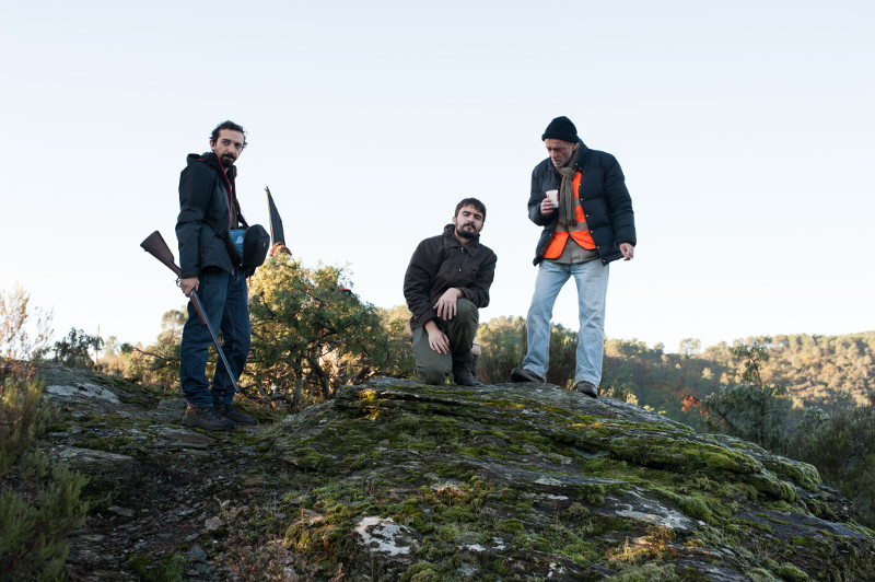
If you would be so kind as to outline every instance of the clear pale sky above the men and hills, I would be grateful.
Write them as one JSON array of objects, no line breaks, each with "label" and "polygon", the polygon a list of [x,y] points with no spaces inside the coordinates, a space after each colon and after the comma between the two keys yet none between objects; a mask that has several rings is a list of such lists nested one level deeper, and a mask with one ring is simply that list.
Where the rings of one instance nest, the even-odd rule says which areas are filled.
[{"label": "clear pale sky above the men and hills", "polygon": [[[639,244],[606,334],[675,351],[875,329],[875,3],[81,2],[0,8],[3,242],[71,326],[149,344],[184,304],[139,244],[178,255],[178,175],[224,119],[250,223],[265,186],[305,265],[389,307],[416,244],[487,205],[481,321],[525,316],[540,135],[569,116],[617,156]],[[573,283],[555,319],[576,329]]]}]

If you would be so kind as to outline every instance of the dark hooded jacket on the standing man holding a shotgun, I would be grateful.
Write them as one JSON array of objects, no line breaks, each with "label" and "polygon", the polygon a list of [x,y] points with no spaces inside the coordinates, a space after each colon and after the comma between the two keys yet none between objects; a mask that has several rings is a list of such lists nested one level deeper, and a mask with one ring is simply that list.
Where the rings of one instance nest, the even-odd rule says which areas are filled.
[{"label": "dark hooded jacket on the standing man holding a shotgun", "polygon": [[180,278],[198,277],[207,268],[233,272],[226,233],[240,224],[234,185],[237,168],[232,165],[224,173],[212,152],[190,153],[186,162],[179,175],[179,217],[176,219]]}]

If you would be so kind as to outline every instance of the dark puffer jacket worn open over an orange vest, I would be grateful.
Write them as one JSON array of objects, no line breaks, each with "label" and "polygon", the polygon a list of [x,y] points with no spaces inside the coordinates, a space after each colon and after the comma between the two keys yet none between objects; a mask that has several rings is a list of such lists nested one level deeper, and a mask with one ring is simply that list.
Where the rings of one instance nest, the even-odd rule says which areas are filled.
[{"label": "dark puffer jacket worn open over an orange vest", "polygon": [[[619,247],[621,243],[632,246],[637,243],[632,198],[626,188],[626,178],[616,158],[606,152],[591,150],[582,141],[580,147],[583,151],[575,164],[575,170],[582,174],[578,195],[598,256],[607,265],[622,257]],[[558,212],[547,217],[541,214],[540,202],[547,190],[558,190],[561,182],[562,176],[549,158],[532,171],[528,218],[535,224],[544,226],[535,249],[535,265],[541,261],[541,255],[553,235],[559,217]]]}]

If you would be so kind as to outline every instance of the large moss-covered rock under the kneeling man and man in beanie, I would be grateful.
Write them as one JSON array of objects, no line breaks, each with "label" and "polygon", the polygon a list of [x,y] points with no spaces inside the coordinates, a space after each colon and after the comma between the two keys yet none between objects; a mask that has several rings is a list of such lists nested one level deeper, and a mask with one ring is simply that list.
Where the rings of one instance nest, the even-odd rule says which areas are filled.
[{"label": "large moss-covered rock under the kneeling man and man in beanie", "polygon": [[812,466],[609,398],[374,380],[265,438],[287,546],[350,579],[875,579]]}]

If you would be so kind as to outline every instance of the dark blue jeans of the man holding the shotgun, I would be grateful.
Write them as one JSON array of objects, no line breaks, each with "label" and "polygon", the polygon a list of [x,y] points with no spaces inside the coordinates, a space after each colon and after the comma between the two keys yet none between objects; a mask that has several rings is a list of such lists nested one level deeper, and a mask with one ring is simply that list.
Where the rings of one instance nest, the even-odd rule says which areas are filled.
[{"label": "dark blue jeans of the man holding the shotgun", "polygon": [[[246,365],[252,340],[246,278],[240,270],[233,275],[209,270],[201,272],[198,279],[198,296],[203,315],[217,335],[222,331],[222,351],[234,373],[234,381],[237,381]],[[210,330],[201,323],[189,301],[188,321],[183,327],[183,342],[179,346],[179,377],[188,404],[213,406],[231,404],[234,399],[234,385],[221,359],[217,358],[212,386],[207,382],[207,349],[211,345]]]}]

